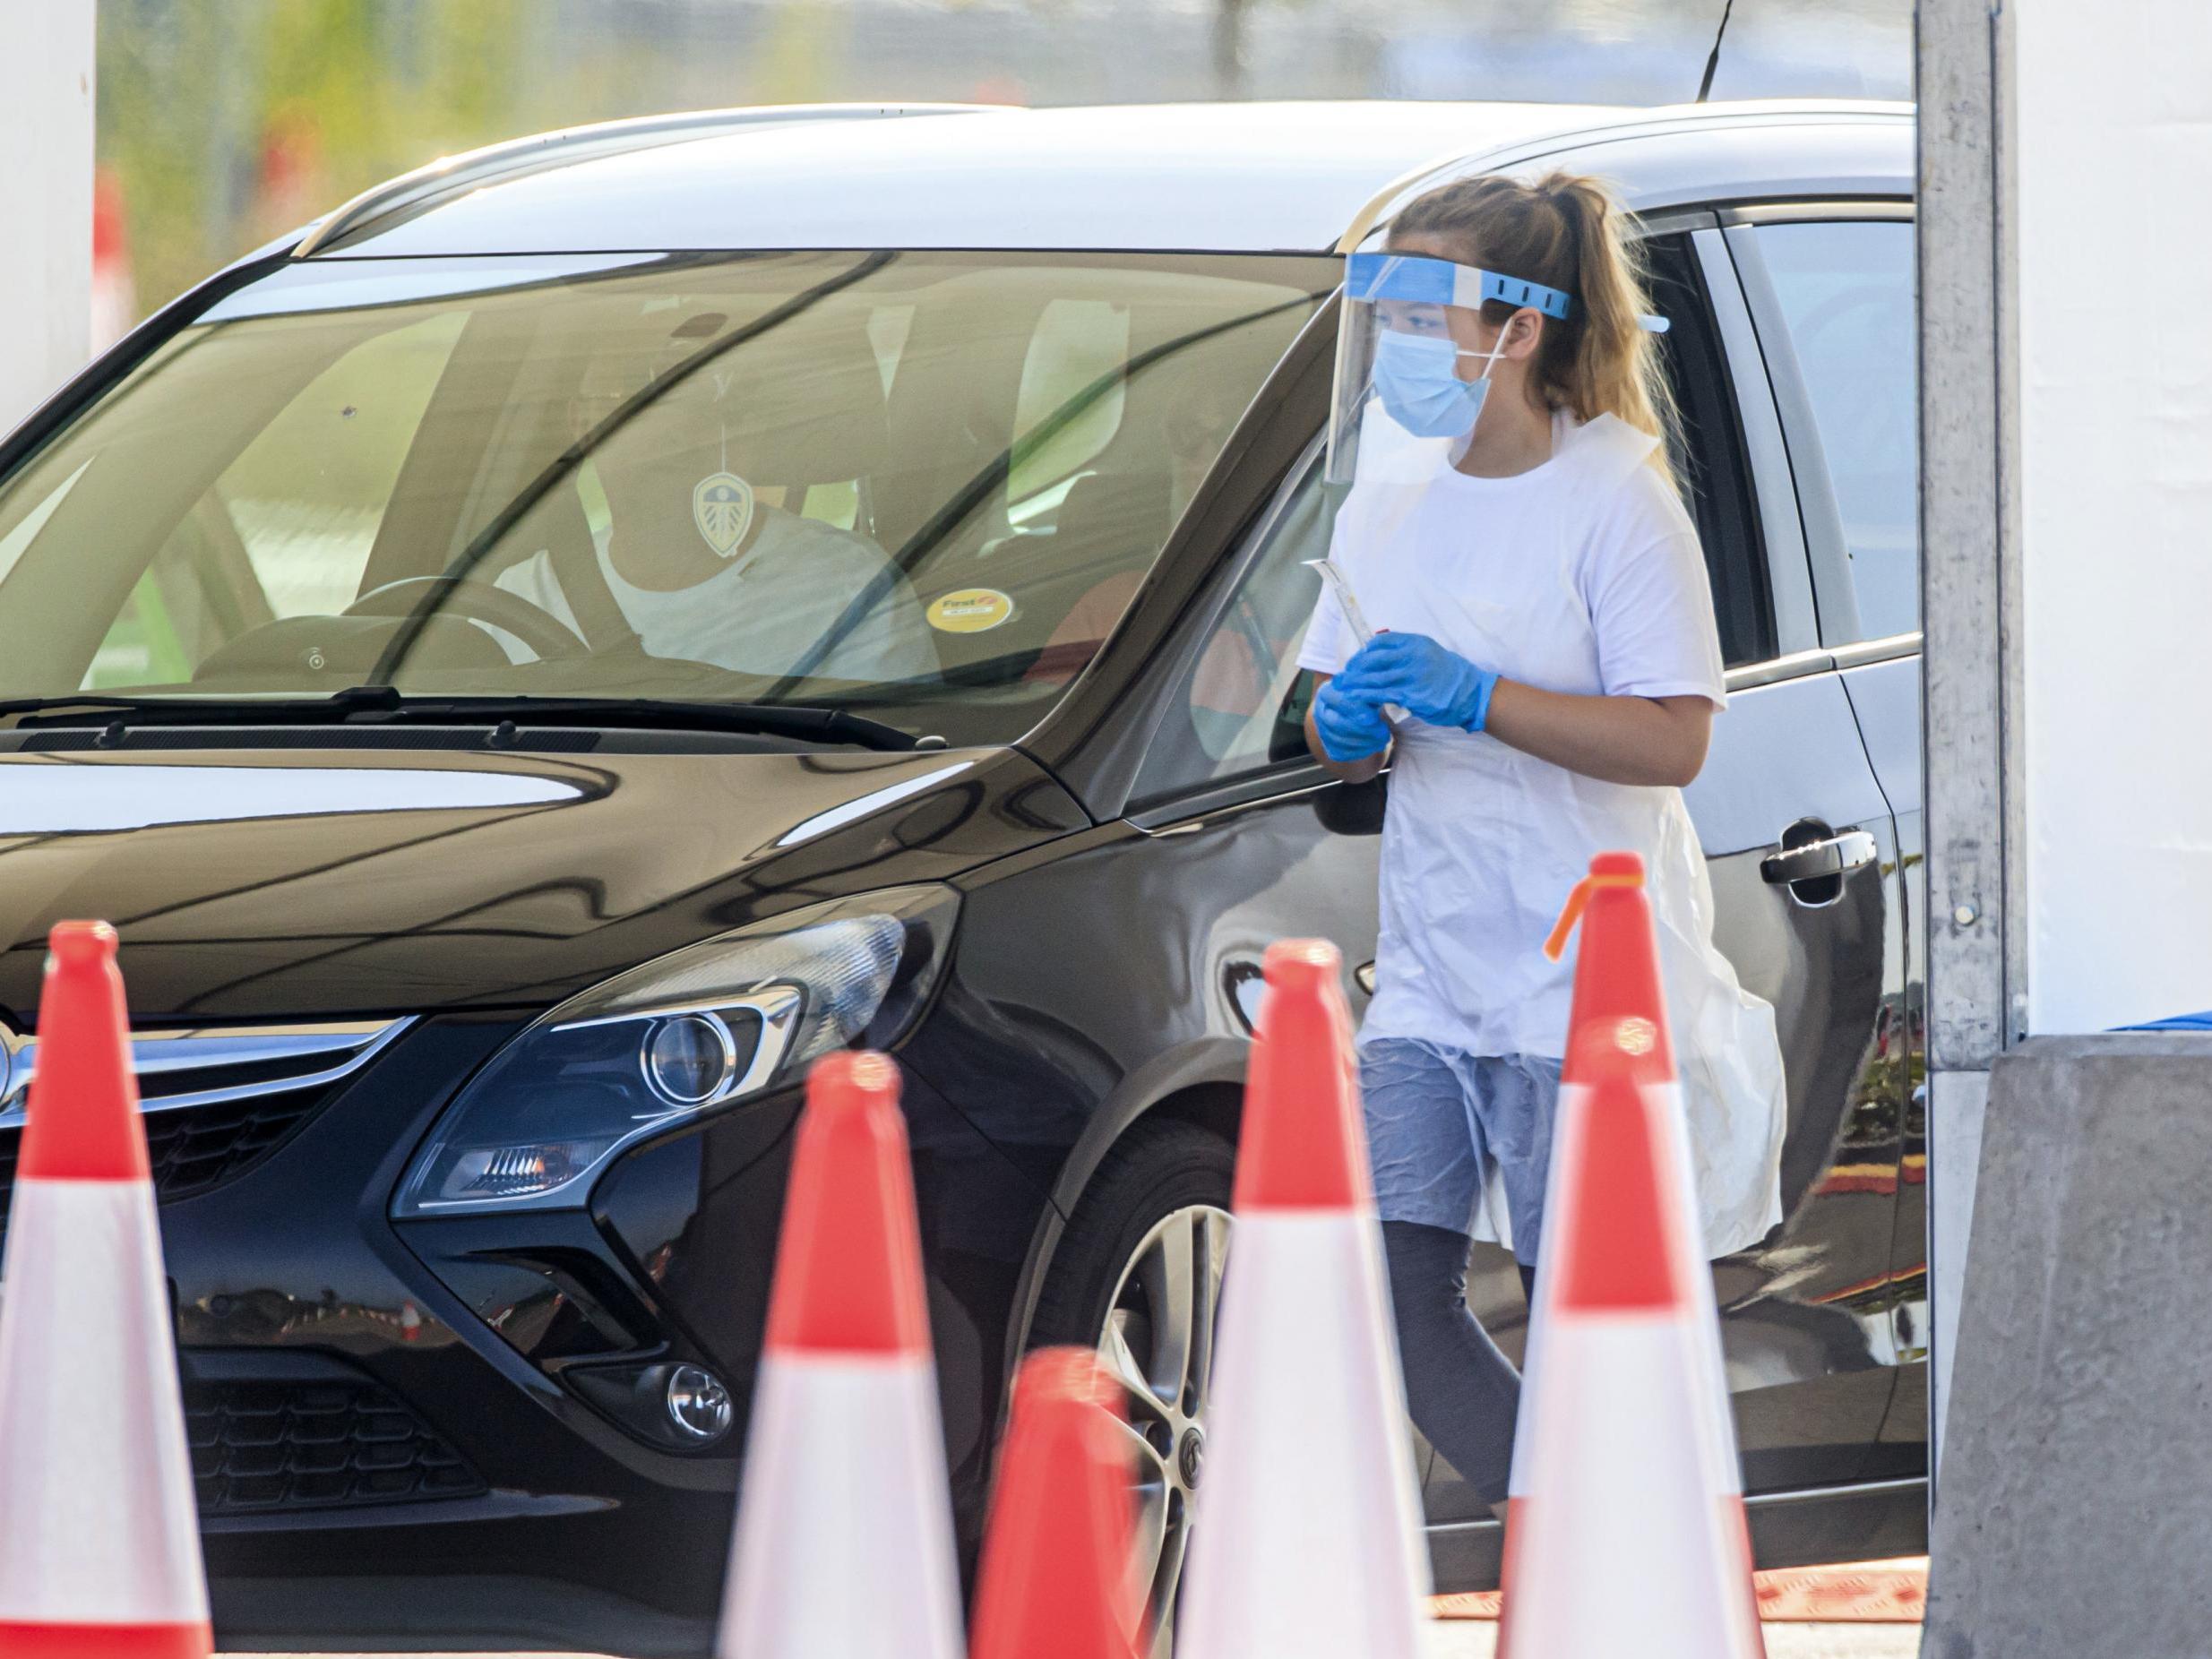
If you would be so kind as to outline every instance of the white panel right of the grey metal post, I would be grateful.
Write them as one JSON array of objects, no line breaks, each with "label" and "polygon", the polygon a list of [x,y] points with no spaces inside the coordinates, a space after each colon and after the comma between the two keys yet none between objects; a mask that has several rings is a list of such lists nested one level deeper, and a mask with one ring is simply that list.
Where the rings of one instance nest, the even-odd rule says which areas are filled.
[{"label": "white panel right of the grey metal post", "polygon": [[2212,1009],[2212,13],[2013,11],[2028,1031]]}]

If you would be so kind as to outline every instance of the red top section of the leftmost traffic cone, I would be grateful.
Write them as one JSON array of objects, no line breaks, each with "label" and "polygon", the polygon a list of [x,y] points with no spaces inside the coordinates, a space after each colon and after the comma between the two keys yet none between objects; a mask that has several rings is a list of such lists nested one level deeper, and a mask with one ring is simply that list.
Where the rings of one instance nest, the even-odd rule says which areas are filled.
[{"label": "red top section of the leftmost traffic cone", "polygon": [[38,1006],[38,1071],[20,1181],[146,1181],[131,1018],[106,922],[55,922]]}]

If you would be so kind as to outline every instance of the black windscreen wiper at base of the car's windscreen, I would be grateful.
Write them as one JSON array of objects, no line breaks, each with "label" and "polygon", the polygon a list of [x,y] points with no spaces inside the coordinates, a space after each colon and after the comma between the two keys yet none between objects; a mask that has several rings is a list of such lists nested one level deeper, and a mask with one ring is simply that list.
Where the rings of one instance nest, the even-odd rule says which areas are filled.
[{"label": "black windscreen wiper at base of the car's windscreen", "polygon": [[945,748],[845,708],[821,703],[675,703],[657,697],[409,697],[392,686],[347,686],[330,697],[15,697],[0,719],[18,728],[106,726],[619,726],[633,730],[741,732],[869,750]]}]

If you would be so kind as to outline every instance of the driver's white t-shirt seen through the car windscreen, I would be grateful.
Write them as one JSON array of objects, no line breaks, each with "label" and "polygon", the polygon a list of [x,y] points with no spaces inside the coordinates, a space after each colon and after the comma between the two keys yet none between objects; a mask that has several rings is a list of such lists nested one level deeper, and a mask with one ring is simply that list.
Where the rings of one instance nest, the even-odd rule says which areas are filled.
[{"label": "driver's white t-shirt seen through the car windscreen", "polygon": [[[608,538],[593,535],[599,573],[648,655],[745,675],[787,675],[889,564],[874,542],[852,531],[774,507],[759,513],[759,535],[743,555],[703,582],[666,593],[626,582],[606,553]],[[493,584],[575,626],[549,553],[507,566]],[[520,639],[498,630],[495,637],[509,657],[529,657]],[[812,672],[860,681],[936,675],[938,653],[914,591],[905,582],[887,584]]]}]

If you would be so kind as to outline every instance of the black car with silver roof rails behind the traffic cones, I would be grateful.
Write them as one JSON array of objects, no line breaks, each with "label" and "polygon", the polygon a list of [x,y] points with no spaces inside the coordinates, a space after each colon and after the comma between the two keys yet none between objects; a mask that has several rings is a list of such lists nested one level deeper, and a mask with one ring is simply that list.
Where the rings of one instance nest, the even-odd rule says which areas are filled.
[{"label": "black car with silver roof rails behind the traffic cones", "polygon": [[[1387,776],[1294,657],[1334,250],[1438,153],[1644,215],[1739,692],[1690,805],[1790,1068],[1717,1265],[1752,1528],[1920,1546],[1909,113],[754,111],[400,179],[0,449],[0,1203],[104,916],[226,1646],[703,1652],[841,1044],[962,1540],[1015,1358],[1097,1345],[1172,1593],[1261,951],[1371,989]],[[1517,1345],[1504,1256],[1471,1301]]]}]

